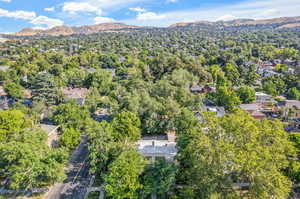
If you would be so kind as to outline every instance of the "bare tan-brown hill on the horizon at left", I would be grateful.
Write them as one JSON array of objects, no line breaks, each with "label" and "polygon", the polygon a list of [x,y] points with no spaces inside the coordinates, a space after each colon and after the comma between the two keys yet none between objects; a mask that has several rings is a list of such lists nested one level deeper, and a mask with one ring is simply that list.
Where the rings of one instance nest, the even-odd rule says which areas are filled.
[{"label": "bare tan-brown hill on the horizon at left", "polygon": [[73,34],[94,34],[103,31],[121,31],[124,29],[138,28],[137,26],[130,26],[123,23],[101,23],[91,26],[69,27],[57,26],[47,30],[37,30],[32,28],[24,28],[20,32],[15,33],[15,36],[60,36]]}]

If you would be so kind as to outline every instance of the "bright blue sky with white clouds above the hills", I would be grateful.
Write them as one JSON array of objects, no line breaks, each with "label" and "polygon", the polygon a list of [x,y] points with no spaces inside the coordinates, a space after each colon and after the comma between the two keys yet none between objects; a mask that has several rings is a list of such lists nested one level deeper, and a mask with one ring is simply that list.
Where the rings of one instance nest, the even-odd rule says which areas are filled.
[{"label": "bright blue sky with white clouds above the hills", "polygon": [[104,22],[169,26],[177,22],[300,15],[300,0],[0,0],[0,32]]}]

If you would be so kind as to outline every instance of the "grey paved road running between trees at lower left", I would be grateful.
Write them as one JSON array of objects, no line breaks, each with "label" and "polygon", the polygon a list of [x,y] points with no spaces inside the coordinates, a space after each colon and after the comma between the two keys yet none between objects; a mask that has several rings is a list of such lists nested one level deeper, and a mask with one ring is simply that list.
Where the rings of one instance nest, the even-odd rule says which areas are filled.
[{"label": "grey paved road running between trees at lower left", "polygon": [[90,181],[87,156],[87,137],[83,137],[82,142],[72,154],[67,168],[67,179],[55,184],[44,199],[83,199]]}]

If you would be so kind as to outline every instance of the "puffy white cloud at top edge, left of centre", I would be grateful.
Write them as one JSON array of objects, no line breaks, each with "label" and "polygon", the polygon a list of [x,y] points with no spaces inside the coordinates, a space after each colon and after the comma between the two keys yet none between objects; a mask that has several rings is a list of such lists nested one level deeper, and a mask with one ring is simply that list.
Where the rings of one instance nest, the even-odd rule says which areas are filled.
[{"label": "puffy white cloud at top edge, left of centre", "polygon": [[65,2],[63,11],[75,14],[77,12],[91,12],[100,15],[102,10],[88,2]]}]

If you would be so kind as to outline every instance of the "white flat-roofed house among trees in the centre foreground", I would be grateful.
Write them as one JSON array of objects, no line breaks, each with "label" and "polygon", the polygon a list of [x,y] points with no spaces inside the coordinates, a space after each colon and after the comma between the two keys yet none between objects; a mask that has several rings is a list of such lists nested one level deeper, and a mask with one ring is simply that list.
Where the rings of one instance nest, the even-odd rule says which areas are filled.
[{"label": "white flat-roofed house among trees in the centre foreground", "polygon": [[175,140],[174,132],[168,133],[167,136],[143,137],[136,143],[136,149],[151,163],[159,159],[174,161],[177,153]]}]

